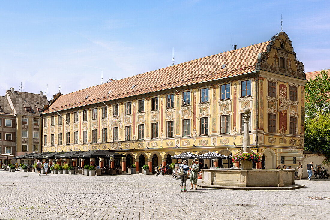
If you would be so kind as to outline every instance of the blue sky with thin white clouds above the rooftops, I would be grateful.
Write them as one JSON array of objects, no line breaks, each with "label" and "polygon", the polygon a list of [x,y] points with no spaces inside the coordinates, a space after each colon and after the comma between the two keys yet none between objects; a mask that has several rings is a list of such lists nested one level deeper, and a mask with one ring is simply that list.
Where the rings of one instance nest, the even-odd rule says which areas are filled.
[{"label": "blue sky with thin white clouds above the rooftops", "polygon": [[330,68],[330,1],[1,1],[0,95],[48,99],[265,42],[281,31],[305,72]]}]

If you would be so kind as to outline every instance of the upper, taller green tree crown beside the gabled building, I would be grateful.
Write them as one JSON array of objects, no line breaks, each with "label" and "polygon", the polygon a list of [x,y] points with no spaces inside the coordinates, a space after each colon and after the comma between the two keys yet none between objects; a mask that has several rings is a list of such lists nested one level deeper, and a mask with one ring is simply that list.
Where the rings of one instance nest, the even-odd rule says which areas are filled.
[{"label": "upper, taller green tree crown beside the gabled building", "polygon": [[315,79],[305,85],[306,123],[319,112],[330,112],[330,79],[327,70],[321,70]]}]

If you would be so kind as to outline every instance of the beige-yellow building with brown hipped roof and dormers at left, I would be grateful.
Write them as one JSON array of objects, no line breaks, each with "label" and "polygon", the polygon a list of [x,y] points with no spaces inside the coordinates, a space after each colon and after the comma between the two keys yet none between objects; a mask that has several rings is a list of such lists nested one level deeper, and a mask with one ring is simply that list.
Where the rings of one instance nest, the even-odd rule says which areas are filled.
[{"label": "beige-yellow building with brown hipped roof and dormers at left", "polygon": [[[6,99],[15,118],[16,149],[12,154],[20,156],[32,152],[42,152],[42,118],[44,105],[48,105],[46,95],[7,90]],[[14,163],[16,161],[13,161]],[[18,161],[19,163],[20,161]]]}]

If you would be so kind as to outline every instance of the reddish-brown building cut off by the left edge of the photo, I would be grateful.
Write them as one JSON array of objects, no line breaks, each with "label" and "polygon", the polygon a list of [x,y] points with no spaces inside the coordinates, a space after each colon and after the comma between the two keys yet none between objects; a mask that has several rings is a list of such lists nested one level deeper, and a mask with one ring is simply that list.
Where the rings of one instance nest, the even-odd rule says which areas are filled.
[{"label": "reddish-brown building cut off by the left edge of the photo", "polygon": [[[16,120],[5,96],[0,96],[0,154],[16,153]],[[10,164],[11,157],[0,156],[0,167]]]}]

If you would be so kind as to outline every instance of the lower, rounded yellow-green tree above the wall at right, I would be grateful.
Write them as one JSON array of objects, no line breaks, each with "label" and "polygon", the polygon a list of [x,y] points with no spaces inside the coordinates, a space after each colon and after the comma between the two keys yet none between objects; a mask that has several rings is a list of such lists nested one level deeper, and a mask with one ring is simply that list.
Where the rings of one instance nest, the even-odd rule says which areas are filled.
[{"label": "lower, rounded yellow-green tree above the wall at right", "polygon": [[305,150],[324,155],[323,164],[330,162],[330,113],[319,112],[305,125]]}]

